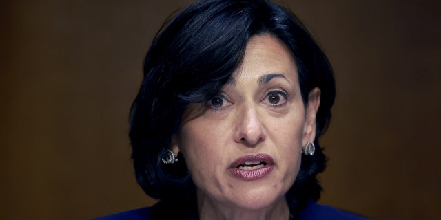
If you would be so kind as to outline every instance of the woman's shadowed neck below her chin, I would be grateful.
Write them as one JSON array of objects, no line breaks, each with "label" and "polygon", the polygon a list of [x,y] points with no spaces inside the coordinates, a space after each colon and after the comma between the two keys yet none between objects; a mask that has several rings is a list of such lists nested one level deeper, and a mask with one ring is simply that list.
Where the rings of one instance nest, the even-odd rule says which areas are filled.
[{"label": "woman's shadowed neck below her chin", "polygon": [[285,197],[281,197],[263,208],[241,208],[232,203],[219,202],[197,192],[199,219],[289,219],[289,207]]}]

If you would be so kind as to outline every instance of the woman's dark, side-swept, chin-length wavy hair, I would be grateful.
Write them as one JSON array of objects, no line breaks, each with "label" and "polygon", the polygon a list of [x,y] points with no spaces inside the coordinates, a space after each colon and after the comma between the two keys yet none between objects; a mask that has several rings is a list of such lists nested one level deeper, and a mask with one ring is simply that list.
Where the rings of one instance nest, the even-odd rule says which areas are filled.
[{"label": "woman's dark, side-swept, chin-length wavy hair", "polygon": [[292,12],[265,0],[196,1],[168,19],[156,34],[130,111],[136,180],[147,195],[165,202],[185,199],[195,206],[195,186],[185,158],[180,154],[178,162],[170,165],[161,163],[161,155],[178,133],[187,105],[207,102],[220,91],[242,62],[247,42],[257,34],[270,34],[291,51],[304,104],[311,89],[321,91],[316,153],[302,155],[300,171],[286,195],[293,214],[309,199],[320,198],[316,175],[325,169],[326,157],[318,138],[327,129],[336,94],[331,65]]}]

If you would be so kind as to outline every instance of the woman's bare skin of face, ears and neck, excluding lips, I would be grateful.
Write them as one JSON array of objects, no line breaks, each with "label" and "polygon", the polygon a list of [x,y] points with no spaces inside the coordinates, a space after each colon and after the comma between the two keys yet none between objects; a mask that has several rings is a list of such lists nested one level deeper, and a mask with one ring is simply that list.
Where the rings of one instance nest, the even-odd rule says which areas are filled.
[{"label": "woman's bare skin of face, ears and neck, excluding lips", "polygon": [[[242,65],[216,98],[190,104],[171,149],[182,153],[197,187],[201,219],[289,219],[285,193],[298,175],[301,148],[316,135],[320,90],[302,101],[293,56],[269,34],[253,36]],[[265,154],[274,168],[251,181],[232,163]]]}]

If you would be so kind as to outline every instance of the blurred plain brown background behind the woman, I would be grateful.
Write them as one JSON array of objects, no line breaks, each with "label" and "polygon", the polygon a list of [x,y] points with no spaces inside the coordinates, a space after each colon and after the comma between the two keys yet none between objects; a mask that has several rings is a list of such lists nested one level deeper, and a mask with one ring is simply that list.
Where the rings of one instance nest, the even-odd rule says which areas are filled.
[{"label": "blurred plain brown background behind the woman", "polygon": [[[90,219],[154,201],[134,180],[127,113],[143,56],[186,1],[1,1],[0,219]],[[441,7],[285,1],[334,65],[321,203],[438,219]]]}]

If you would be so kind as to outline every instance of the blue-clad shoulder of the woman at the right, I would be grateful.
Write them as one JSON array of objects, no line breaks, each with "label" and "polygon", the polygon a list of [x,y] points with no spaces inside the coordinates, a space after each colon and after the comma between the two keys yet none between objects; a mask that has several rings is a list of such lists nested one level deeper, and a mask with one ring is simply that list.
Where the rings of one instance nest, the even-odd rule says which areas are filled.
[{"label": "blue-clad shoulder of the woman at the right", "polygon": [[298,215],[298,220],[367,220],[367,217],[360,217],[356,214],[351,214],[337,208],[325,205],[319,205],[314,200],[307,203],[302,212]]}]

